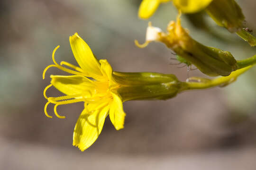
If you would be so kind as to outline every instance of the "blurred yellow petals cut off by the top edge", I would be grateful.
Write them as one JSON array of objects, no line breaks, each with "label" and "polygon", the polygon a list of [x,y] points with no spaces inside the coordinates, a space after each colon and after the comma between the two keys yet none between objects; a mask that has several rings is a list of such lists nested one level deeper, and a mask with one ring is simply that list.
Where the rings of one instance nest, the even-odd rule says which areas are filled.
[{"label": "blurred yellow petals cut off by the top edge", "polygon": [[[161,3],[171,0],[142,0],[138,17],[148,19],[151,17]],[[206,8],[212,0],[173,0],[174,6],[183,13],[195,13]]]}]

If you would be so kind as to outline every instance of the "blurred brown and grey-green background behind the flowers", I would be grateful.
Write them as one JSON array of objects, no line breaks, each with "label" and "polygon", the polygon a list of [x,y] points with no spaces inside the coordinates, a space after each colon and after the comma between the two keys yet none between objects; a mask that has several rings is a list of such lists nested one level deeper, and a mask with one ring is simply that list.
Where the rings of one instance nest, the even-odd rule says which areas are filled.
[{"label": "blurred brown and grey-green background behind the flowers", "polygon": [[[187,78],[186,68],[169,65],[174,55],[163,44],[134,45],[135,39],[144,42],[148,22],[137,18],[140,1],[0,1],[0,170],[256,169],[256,68],[225,88],[185,92],[167,101],[125,102],[125,128],[116,131],[107,118],[98,140],[83,153],[72,146],[82,103],[58,107],[66,119],[45,116],[49,75],[64,73],[51,68],[43,80],[43,69],[53,63],[57,45],[56,60],[76,64],[69,45],[75,32],[115,71]],[[247,26],[256,30],[256,1],[238,3]],[[150,20],[165,30],[176,15],[167,3]],[[193,18],[183,15],[182,22],[197,41],[231,51],[236,59],[256,53],[209,17],[203,17],[206,25]],[[196,70],[189,76],[203,75]],[[53,107],[48,110],[54,114]]]}]

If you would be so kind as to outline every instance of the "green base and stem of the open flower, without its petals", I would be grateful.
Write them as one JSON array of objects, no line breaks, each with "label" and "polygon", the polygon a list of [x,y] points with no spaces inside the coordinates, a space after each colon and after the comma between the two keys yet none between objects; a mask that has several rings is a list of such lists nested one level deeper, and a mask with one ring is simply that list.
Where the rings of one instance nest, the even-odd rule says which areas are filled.
[{"label": "green base and stem of the open flower, without its petals", "polygon": [[[248,60],[248,59],[247,59]],[[166,100],[175,97],[178,93],[194,90],[206,89],[215,86],[226,86],[236,81],[237,77],[253,65],[245,67],[248,63],[255,62],[256,55],[249,60],[243,61],[241,69],[233,71],[229,76],[219,76],[214,79],[202,77],[190,77],[188,82],[181,82],[175,75],[161,73],[122,73],[113,72],[114,81],[119,84],[117,92],[123,102],[129,100]]]}]

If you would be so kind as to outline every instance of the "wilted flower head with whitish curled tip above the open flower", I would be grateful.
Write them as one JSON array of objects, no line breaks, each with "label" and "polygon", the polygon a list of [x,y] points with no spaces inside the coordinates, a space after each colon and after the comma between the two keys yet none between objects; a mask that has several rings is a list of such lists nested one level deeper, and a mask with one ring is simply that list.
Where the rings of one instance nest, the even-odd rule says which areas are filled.
[{"label": "wilted flower head with whitish curled tip above the open flower", "polygon": [[[146,43],[138,45],[136,42],[136,44],[139,47],[145,47],[148,42],[153,41],[147,38],[150,37],[149,34],[152,33],[146,33]],[[237,61],[230,52],[205,46],[192,39],[188,31],[181,26],[180,17],[177,17],[176,23],[174,21],[169,23],[167,33],[157,32],[156,35],[154,41],[165,43],[177,55],[195,65],[208,76],[229,76],[237,69]]]}]

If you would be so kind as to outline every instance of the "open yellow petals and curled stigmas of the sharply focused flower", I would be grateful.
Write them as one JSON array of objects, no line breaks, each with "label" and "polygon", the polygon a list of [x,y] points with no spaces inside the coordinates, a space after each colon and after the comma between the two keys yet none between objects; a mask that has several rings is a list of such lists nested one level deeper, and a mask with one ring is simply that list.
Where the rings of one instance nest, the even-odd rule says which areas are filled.
[{"label": "open yellow petals and curled stigmas of the sharply focused flower", "polygon": [[[114,127],[119,130],[124,127],[126,114],[123,111],[122,99],[117,93],[119,85],[112,78],[112,68],[108,61],[105,59],[98,61],[90,47],[77,33],[70,37],[70,44],[80,67],[65,61],[58,64],[54,56],[59,46],[55,48],[52,55],[55,64],[46,67],[43,78],[46,70],[51,67],[59,68],[73,76],[51,76],[51,84],[44,90],[44,96],[48,100],[45,105],[45,114],[52,118],[47,114],[46,109],[49,103],[53,103],[55,115],[58,118],[65,118],[57,113],[58,105],[84,102],[84,110],[77,120],[73,133],[73,145],[84,151],[98,138],[108,115]],[[63,65],[73,69],[63,67]],[[65,95],[47,97],[46,90],[52,85]]]}]

